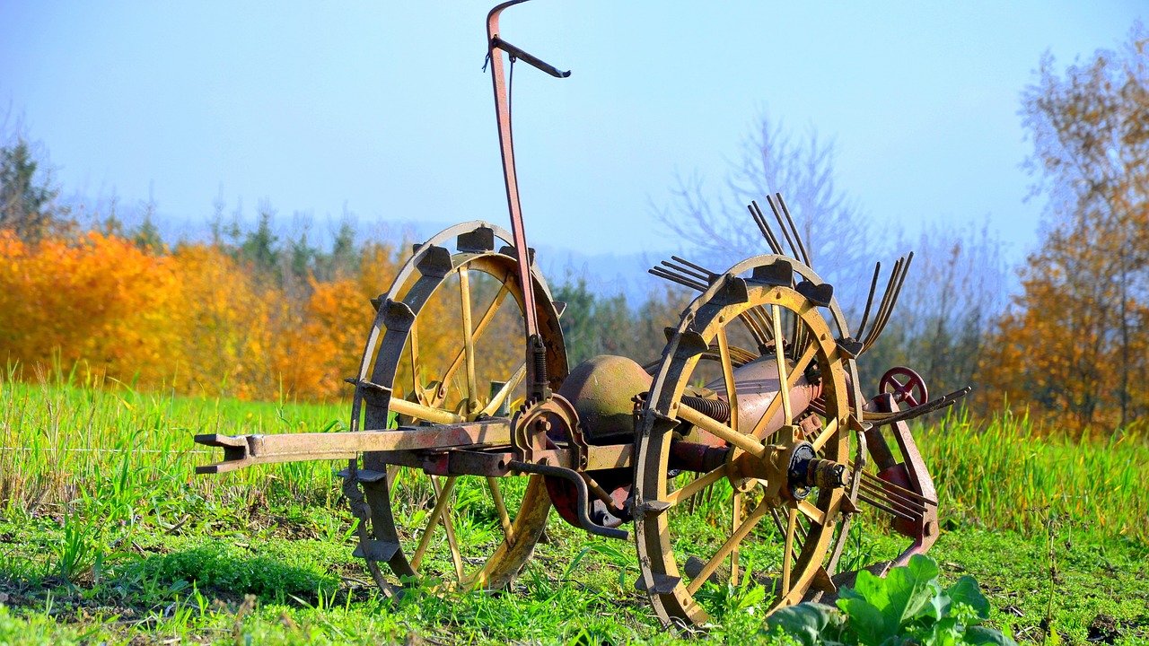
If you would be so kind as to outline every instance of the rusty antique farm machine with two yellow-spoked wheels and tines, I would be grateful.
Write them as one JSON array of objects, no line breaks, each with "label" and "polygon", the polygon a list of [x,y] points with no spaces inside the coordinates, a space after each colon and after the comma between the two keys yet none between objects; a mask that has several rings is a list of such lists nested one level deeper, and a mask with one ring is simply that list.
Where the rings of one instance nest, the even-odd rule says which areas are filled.
[{"label": "rusty antique farm machine with two yellow-spoked wheels and tines", "polygon": [[[748,222],[770,253],[718,271],[678,256],[650,270],[697,292],[665,329],[661,357],[569,367],[564,305],[523,225],[506,61],[570,72],[501,38],[500,14],[522,1],[487,17],[510,231],[466,222],[412,248],[372,300],[347,379],[349,430],[196,436],[223,448],[198,471],[347,460],[355,555],[388,595],[506,589],[550,540],[552,508],[588,533],[633,540],[635,587],[684,625],[708,621],[716,586],[762,586],[773,609],[928,549],[936,494],[907,421],[969,389],[931,400],[899,367],[866,399],[856,364],[889,321],[912,254],[880,297],[876,267],[851,329],[786,202],[768,195]],[[851,539],[865,523],[894,541],[888,557]]]}]

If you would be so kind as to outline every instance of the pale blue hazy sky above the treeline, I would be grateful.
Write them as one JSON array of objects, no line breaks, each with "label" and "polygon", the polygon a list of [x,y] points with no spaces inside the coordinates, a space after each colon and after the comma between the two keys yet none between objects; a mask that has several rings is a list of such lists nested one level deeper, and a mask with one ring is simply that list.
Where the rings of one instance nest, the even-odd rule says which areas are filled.
[{"label": "pale blue hazy sky above the treeline", "polygon": [[[151,199],[202,234],[222,200],[323,232],[380,222],[507,225],[487,2],[0,2],[0,109],[64,193]],[[527,238],[579,254],[680,247],[655,210],[677,177],[723,191],[764,115],[832,139],[873,226],[988,218],[1019,260],[1042,212],[1020,93],[1117,46],[1146,3],[607,2],[508,9]],[[2,114],[2,113],[0,113]],[[785,187],[779,187],[785,193]],[[88,209],[92,207],[88,206]]]}]

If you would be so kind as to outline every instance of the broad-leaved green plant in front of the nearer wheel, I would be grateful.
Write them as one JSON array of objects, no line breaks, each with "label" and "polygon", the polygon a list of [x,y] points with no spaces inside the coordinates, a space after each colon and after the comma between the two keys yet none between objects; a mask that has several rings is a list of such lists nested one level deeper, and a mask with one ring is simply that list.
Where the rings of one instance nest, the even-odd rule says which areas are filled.
[{"label": "broad-leaved green plant in front of the nearer wheel", "polygon": [[781,628],[805,646],[950,646],[1015,644],[1000,631],[979,625],[989,617],[989,601],[973,577],[964,576],[943,590],[938,562],[915,555],[885,578],[858,572],[855,587],[842,587],[838,608],[801,603],[770,616],[770,631]]}]

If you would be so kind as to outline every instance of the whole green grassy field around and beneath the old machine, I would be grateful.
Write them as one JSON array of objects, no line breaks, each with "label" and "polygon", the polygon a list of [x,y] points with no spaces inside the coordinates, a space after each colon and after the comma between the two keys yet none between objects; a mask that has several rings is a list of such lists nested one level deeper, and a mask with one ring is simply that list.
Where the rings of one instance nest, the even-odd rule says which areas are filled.
[{"label": "whole green grassy field around and beneath the old machine", "polygon": [[[552,514],[507,593],[381,598],[352,557],[333,471],[295,463],[196,477],[195,433],[338,430],[344,406],[140,393],[123,384],[0,383],[0,644],[650,643],[632,545]],[[1018,641],[1149,641],[1149,444],[1036,437],[1024,418],[933,421],[944,578],[973,575]],[[880,549],[884,537],[867,540]],[[735,587],[709,629],[762,643]]]}]

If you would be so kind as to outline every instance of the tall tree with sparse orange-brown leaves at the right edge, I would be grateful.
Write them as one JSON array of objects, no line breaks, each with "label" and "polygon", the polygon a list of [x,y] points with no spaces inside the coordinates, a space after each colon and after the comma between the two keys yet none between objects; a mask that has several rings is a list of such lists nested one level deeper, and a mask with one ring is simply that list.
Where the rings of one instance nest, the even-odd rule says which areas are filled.
[{"label": "tall tree with sparse orange-brown leaves at the right edge", "polygon": [[[1077,428],[1123,428],[1149,413],[1149,33],[1064,75],[1052,56],[1023,94],[1041,247],[1001,321],[1002,390]],[[1020,391],[1020,392],[1018,392]]]}]

